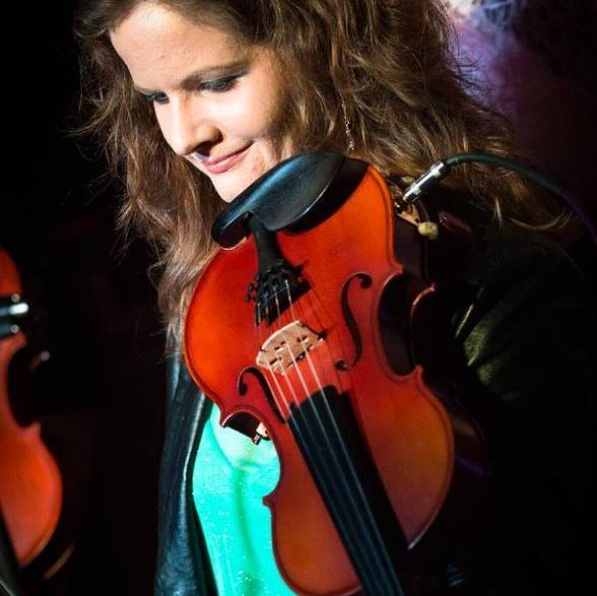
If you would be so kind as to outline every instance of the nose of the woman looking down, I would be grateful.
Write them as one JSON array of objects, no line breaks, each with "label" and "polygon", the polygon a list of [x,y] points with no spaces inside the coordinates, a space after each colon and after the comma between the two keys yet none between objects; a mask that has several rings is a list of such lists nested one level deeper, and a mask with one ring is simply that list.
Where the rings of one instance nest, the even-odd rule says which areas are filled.
[{"label": "nose of the woman looking down", "polygon": [[192,97],[179,97],[170,100],[168,130],[162,133],[174,153],[180,156],[202,152],[220,138],[219,128],[206,118],[198,102]]}]

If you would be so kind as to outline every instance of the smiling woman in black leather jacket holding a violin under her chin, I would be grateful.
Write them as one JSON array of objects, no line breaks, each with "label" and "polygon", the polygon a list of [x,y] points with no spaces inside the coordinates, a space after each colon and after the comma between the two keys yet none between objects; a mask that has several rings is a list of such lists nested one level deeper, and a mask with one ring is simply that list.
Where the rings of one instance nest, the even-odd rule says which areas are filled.
[{"label": "smiling woman in black leather jacket holding a violin under her chin", "polygon": [[[89,130],[124,176],[122,225],[156,248],[175,354],[156,592],[290,593],[261,528],[267,510],[256,506],[275,486],[273,447],[219,430],[216,408],[176,358],[190,292],[214,251],[211,222],[261,174],[307,150],[356,156],[404,186],[440,156],[471,148],[511,155],[512,148],[451,60],[450,27],[431,0],[94,0],[81,5],[77,31],[94,107]],[[548,505],[562,511],[574,503],[578,511],[586,498],[580,460],[565,438],[551,437],[561,383],[569,380],[557,373],[564,355],[581,371],[571,390],[578,407],[584,412],[589,402],[589,354],[581,348],[590,345],[589,299],[561,251],[530,231],[490,225],[549,223],[545,201],[517,176],[463,167],[438,201],[470,220],[481,248],[459,253],[456,266],[439,264],[450,332],[421,361],[460,371],[450,374],[469,391],[464,401],[498,473],[481,546],[463,553],[455,546],[424,564],[412,589],[533,592],[574,569],[559,543],[565,537],[570,546],[574,523],[549,520],[549,531],[543,524]],[[541,297],[552,275],[562,283]],[[547,337],[546,321],[555,319],[564,322]],[[444,342],[460,358],[450,367],[438,357]],[[528,438],[522,429],[537,411],[541,422]],[[574,420],[564,432],[583,443],[587,429]],[[515,529],[521,544],[512,548]]]}]

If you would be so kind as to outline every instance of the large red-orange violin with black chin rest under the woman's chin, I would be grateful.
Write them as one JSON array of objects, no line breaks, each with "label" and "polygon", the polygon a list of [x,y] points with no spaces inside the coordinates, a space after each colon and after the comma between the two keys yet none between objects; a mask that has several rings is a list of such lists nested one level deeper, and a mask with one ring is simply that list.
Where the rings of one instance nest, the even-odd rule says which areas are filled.
[{"label": "large red-orange violin with black chin rest under the woman's chin", "polygon": [[402,594],[408,552],[453,480],[458,425],[421,367],[395,373],[381,341],[380,296],[404,273],[393,222],[373,167],[291,158],[216,220],[227,250],[187,311],[187,367],[221,423],[275,443],[264,503],[300,594]]}]

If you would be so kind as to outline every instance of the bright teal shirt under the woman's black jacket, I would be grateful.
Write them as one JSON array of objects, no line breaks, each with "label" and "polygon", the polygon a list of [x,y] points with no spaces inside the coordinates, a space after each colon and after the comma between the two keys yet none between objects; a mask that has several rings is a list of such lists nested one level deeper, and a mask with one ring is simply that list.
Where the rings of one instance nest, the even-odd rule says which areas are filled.
[{"label": "bright teal shirt under the woman's black jacket", "polygon": [[276,567],[271,514],[262,501],[279,475],[272,441],[255,445],[222,428],[214,405],[195,459],[193,499],[219,594],[294,594]]}]

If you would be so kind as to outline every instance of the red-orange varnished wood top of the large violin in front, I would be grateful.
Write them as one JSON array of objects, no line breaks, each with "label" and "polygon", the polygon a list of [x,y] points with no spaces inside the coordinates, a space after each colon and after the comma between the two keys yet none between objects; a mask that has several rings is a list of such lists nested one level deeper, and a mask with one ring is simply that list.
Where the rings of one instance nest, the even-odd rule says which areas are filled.
[{"label": "red-orange varnished wood top of the large violin in front", "polygon": [[[287,423],[276,416],[259,383],[245,374],[256,366],[263,342],[300,320],[325,339],[285,374],[264,371],[285,419],[321,386],[347,392],[361,432],[380,472],[408,541],[432,523],[450,485],[454,440],[450,420],[426,388],[420,368],[406,376],[390,369],[381,345],[378,306],[390,278],[402,266],[393,253],[392,203],[380,174],[369,168],[350,199],[328,220],[300,235],[278,234],[291,265],[301,266],[310,290],[269,326],[256,328],[247,285],[257,271],[253,238],[216,254],[199,279],[190,303],[184,352],[195,382],[222,412],[222,423],[238,413],[259,419],[272,437],[281,465],[278,486],[264,500],[272,511],[276,561],[288,584],[301,594],[352,594],[359,582]],[[354,346],[341,309],[343,287],[366,274],[371,287],[350,282],[350,309],[363,350],[349,370]],[[284,394],[284,397],[281,397]],[[330,430],[333,432],[333,429]]]}]

